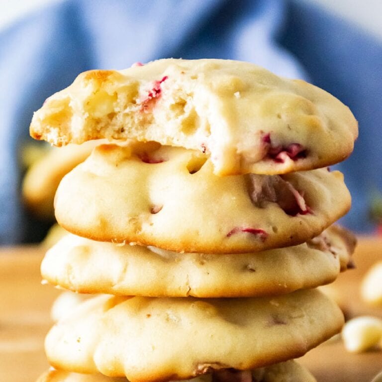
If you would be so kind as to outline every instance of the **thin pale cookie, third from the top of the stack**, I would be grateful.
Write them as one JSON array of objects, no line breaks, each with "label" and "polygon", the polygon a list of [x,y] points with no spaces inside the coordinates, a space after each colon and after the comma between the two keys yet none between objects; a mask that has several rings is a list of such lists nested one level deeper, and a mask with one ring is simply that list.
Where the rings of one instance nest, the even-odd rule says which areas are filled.
[{"label": "thin pale cookie, third from the top of the stack", "polygon": [[41,264],[45,281],[80,293],[251,297],[331,283],[345,270],[349,232],[331,227],[294,247],[236,255],[118,246],[68,235]]}]

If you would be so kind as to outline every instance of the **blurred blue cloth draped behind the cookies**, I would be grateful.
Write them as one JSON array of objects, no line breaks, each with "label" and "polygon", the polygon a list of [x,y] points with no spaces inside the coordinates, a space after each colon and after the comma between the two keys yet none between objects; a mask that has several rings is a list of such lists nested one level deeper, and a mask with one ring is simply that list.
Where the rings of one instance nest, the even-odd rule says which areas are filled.
[{"label": "blurred blue cloth draped behind the cookies", "polygon": [[0,33],[0,243],[33,237],[19,191],[33,111],[82,71],[164,57],[254,62],[348,104],[361,136],[339,165],[354,199],[343,223],[372,229],[370,190],[382,189],[381,41],[298,1],[67,0]]}]

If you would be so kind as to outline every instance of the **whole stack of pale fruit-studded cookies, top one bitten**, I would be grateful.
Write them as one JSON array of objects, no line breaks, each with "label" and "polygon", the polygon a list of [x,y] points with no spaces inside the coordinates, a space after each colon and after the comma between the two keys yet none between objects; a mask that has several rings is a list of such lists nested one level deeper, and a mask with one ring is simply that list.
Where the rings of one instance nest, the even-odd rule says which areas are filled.
[{"label": "whole stack of pale fruit-studded cookies, top one bitten", "polygon": [[327,166],[357,133],[332,95],[235,61],[90,71],[48,98],[34,138],[119,143],[56,193],[71,234],[42,276],[102,295],[51,329],[41,381],[314,381],[292,359],[343,324],[314,288],[354,249],[332,226],[351,201]]}]

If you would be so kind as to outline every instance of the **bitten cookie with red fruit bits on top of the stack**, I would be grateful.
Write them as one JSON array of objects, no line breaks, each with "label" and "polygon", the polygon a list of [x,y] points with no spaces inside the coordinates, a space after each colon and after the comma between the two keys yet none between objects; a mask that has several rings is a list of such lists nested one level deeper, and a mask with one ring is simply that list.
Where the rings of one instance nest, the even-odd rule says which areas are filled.
[{"label": "bitten cookie with red fruit bits on top of the stack", "polygon": [[299,80],[230,60],[165,59],[94,70],[49,97],[30,133],[54,145],[135,138],[210,154],[214,173],[284,174],[344,160],[358,124]]}]

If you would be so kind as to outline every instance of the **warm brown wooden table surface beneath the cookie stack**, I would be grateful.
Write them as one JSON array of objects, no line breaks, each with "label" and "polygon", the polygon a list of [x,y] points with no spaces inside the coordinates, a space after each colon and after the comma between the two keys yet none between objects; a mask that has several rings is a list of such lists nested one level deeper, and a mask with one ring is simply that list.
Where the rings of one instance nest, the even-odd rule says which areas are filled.
[{"label": "warm brown wooden table surface beneath the cookie stack", "polygon": [[[59,291],[40,283],[42,256],[39,247],[0,249],[1,382],[34,382],[48,367],[43,341],[52,325],[49,309]],[[382,239],[360,239],[355,254],[357,269],[340,275],[333,284],[351,315],[382,317],[382,308],[366,306],[359,296],[362,275],[378,259],[382,260]],[[300,362],[318,382],[370,382],[382,370],[382,351],[353,355],[337,341],[319,346]]]}]

